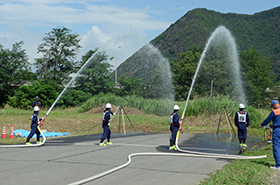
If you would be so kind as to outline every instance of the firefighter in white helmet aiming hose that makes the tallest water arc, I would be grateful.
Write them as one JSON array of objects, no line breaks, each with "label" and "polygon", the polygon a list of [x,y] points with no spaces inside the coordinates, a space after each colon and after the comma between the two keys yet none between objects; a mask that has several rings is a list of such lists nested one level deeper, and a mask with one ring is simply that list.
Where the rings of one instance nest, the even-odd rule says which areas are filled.
[{"label": "firefighter in white helmet aiming hose that makes the tallest water arc", "polygon": [[179,131],[180,122],[179,122],[179,106],[174,105],[174,112],[170,115],[170,131],[171,131],[171,138],[170,138],[170,147],[169,150],[177,150],[175,145],[175,139],[177,132]]}]

